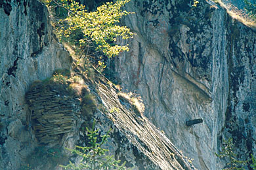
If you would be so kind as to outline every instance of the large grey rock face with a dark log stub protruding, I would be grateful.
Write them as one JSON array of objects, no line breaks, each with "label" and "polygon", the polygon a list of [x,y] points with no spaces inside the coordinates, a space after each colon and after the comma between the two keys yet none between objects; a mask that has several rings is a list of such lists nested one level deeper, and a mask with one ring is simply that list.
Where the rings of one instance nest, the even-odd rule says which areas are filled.
[{"label": "large grey rock face with a dark log stub protruding", "polygon": [[205,1],[132,0],[125,8],[135,14],[123,24],[137,35],[114,68],[124,91],[142,96],[146,117],[198,169],[223,167],[215,156],[223,138],[234,138],[238,158],[255,156],[256,32]]}]

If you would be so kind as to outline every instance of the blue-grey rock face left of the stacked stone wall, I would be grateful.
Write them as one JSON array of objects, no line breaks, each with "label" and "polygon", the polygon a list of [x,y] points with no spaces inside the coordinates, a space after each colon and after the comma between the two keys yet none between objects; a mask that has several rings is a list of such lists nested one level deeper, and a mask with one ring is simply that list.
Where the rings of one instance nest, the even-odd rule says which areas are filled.
[{"label": "blue-grey rock face left of the stacked stone wall", "polygon": [[70,68],[71,60],[39,1],[0,1],[0,23],[0,169],[17,169],[35,147],[25,93],[36,79]]}]

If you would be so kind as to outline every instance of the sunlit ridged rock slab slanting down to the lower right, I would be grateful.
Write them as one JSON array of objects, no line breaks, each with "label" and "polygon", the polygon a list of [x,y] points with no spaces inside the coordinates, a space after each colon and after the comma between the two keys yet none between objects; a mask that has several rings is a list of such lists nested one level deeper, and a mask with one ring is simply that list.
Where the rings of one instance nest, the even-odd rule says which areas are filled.
[{"label": "sunlit ridged rock slab slanting down to the lower right", "polygon": [[[103,81],[102,81],[103,80]],[[112,128],[106,144],[115,158],[127,161],[134,169],[194,169],[194,166],[143,114],[119,100],[117,90],[107,85],[106,79],[95,79],[98,100],[105,111],[96,112],[96,127],[103,133]],[[119,108],[111,112],[113,108]]]}]

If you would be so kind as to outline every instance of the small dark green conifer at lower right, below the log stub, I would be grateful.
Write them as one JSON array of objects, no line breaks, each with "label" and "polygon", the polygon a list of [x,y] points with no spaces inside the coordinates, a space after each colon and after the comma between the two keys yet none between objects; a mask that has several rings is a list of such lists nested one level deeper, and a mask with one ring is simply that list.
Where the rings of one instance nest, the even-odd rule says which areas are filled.
[{"label": "small dark green conifer at lower right, below the log stub", "polygon": [[236,169],[236,170],[242,170],[244,169],[244,165],[247,163],[247,161],[240,161],[236,159],[236,154],[234,154],[233,149],[234,149],[234,144],[233,144],[233,139],[228,138],[228,140],[224,140],[224,146],[222,147],[223,152],[220,152],[220,154],[216,154],[219,158],[226,158],[229,160],[227,163],[227,167],[225,170],[230,170],[230,169]]}]

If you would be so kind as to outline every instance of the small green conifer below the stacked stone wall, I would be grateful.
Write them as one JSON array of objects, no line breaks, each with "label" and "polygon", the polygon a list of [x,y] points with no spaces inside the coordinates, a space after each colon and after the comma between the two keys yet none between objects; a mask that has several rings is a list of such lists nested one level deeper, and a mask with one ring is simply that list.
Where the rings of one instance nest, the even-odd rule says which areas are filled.
[{"label": "small green conifer below the stacked stone wall", "polygon": [[110,137],[108,133],[100,136],[101,142],[98,141],[98,129],[95,130],[95,121],[93,122],[93,129],[90,131],[86,127],[89,137],[89,146],[75,146],[74,150],[70,150],[73,154],[81,157],[81,162],[75,165],[70,161],[68,165],[61,165],[64,169],[91,169],[91,170],[103,170],[103,169],[126,169],[125,162],[119,165],[120,160],[115,160],[114,156],[106,155],[108,150],[101,148],[106,142],[107,138]]}]

